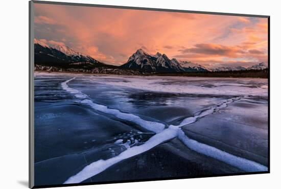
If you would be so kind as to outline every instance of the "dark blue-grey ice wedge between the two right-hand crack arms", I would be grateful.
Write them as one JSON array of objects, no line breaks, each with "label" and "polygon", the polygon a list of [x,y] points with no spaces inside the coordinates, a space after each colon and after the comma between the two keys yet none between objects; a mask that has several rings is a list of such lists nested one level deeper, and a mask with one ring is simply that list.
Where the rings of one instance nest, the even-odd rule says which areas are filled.
[{"label": "dark blue-grey ice wedge between the two right-hand crack arms", "polygon": [[242,98],[184,126],[185,134],[232,155],[268,164],[267,100]]}]

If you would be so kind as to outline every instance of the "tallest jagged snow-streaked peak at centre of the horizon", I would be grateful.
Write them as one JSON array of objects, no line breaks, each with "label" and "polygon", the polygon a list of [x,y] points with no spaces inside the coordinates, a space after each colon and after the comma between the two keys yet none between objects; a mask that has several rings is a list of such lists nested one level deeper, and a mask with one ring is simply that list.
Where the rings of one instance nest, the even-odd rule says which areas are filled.
[{"label": "tallest jagged snow-streaked peak at centre of the horizon", "polygon": [[138,49],[121,67],[157,73],[184,72],[184,68],[176,60],[170,60],[167,55],[158,52],[151,56],[142,49]]}]

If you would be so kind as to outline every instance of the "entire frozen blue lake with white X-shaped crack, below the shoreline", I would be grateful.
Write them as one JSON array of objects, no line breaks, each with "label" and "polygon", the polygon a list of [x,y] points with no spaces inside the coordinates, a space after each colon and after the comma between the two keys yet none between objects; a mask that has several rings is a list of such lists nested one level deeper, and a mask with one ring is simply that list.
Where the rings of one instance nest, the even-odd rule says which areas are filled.
[{"label": "entire frozen blue lake with white X-shaped crack, below the shoreline", "polygon": [[35,184],[267,171],[267,81],[35,73]]}]

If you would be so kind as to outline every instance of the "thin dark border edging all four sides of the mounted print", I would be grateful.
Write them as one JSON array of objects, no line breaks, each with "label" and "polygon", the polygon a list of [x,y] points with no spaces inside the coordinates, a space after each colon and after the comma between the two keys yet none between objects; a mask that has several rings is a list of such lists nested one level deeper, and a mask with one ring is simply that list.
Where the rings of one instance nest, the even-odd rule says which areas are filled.
[{"label": "thin dark border edging all four sides of the mounted print", "polygon": [[[113,9],[132,9],[132,10],[148,10],[148,11],[165,11],[165,12],[181,12],[181,13],[197,13],[197,14],[213,14],[227,16],[245,16],[268,18],[268,171],[251,172],[251,173],[233,173],[233,174],[218,174],[218,175],[198,175],[191,177],[167,177],[167,178],[151,178],[151,179],[134,179],[120,181],[105,181],[105,182],[88,182],[74,184],[51,184],[51,185],[34,185],[34,4],[52,4],[52,5],[69,5],[83,7],[101,7]],[[221,12],[205,12],[205,11],[189,11],[175,9],[158,9],[145,7],[127,7],[127,6],[112,6],[112,5],[96,5],[83,3],[66,3],[66,2],[50,2],[50,1],[30,1],[29,2],[29,188],[47,188],[47,187],[64,187],[64,186],[81,186],[81,185],[96,185],[96,184],[111,184],[111,183],[126,183],[126,182],[143,182],[143,181],[159,181],[159,180],[175,180],[188,178],[207,178],[221,176],[236,176],[236,175],[254,175],[270,173],[270,16],[254,15],[254,14],[236,14],[236,13],[221,13]]]}]

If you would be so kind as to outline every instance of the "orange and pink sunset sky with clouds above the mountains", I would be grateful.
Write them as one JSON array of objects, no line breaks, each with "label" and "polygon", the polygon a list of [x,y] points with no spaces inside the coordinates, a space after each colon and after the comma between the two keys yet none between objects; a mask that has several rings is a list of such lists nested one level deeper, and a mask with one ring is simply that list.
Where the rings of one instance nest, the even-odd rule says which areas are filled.
[{"label": "orange and pink sunset sky with clouds above the mountains", "polygon": [[208,68],[268,61],[267,18],[35,4],[35,38],[122,65],[138,49]]}]

